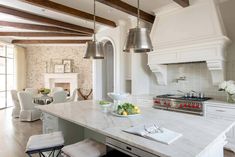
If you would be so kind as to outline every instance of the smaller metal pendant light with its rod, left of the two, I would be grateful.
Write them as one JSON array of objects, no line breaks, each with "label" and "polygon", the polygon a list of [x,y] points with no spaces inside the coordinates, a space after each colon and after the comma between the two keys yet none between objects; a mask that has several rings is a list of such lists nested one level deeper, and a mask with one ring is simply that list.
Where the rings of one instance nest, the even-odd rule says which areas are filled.
[{"label": "smaller metal pendant light with its rod, left of the two", "polygon": [[104,59],[104,45],[102,42],[96,41],[96,27],[95,27],[95,16],[96,16],[96,10],[95,10],[95,1],[94,0],[94,36],[93,36],[93,41],[88,41],[87,42],[87,48],[86,48],[86,53],[83,58],[85,59]]}]

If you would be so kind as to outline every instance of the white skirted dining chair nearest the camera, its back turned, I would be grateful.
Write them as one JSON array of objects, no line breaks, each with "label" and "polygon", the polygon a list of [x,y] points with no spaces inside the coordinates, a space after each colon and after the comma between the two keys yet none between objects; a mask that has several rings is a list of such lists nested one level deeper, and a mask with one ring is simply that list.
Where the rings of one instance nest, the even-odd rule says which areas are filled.
[{"label": "white skirted dining chair nearest the camera, its back turned", "polygon": [[35,121],[40,119],[41,111],[36,109],[36,104],[33,103],[33,95],[29,92],[18,92],[20,102],[20,120],[21,121]]}]

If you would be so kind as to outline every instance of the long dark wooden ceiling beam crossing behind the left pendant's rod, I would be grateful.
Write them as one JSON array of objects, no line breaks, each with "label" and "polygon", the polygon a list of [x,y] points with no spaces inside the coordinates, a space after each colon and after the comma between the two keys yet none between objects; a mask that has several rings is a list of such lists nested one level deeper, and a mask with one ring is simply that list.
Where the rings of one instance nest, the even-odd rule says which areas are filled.
[{"label": "long dark wooden ceiling beam crossing behind the left pendant's rod", "polygon": [[[53,10],[56,12],[60,12],[63,14],[71,15],[73,17],[82,18],[85,20],[93,21],[94,19],[93,14],[89,14],[84,11],[77,10],[77,9],[74,9],[74,8],[59,4],[59,3],[55,3],[49,0],[46,0],[46,1],[45,0],[21,0],[21,1],[35,5],[35,6],[39,6],[42,8],[46,8],[49,10]],[[107,26],[116,27],[115,22],[105,19],[103,17],[96,16],[96,21]]]}]

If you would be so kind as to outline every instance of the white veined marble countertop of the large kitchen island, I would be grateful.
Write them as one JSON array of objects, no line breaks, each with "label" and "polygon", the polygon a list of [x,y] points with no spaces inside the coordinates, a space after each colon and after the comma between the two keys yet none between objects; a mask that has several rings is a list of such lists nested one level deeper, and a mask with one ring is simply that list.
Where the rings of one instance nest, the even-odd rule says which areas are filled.
[{"label": "white veined marble countertop of the large kitchen island", "polygon": [[[231,121],[206,119],[151,107],[142,108],[142,115],[135,118],[115,117],[110,113],[103,113],[100,106],[91,100],[44,105],[37,108],[150,153],[173,157],[199,156],[206,147],[213,144],[217,138],[221,138],[234,125]],[[166,145],[121,131],[148,122],[155,122],[162,127],[182,133],[183,136],[172,144]]]}]

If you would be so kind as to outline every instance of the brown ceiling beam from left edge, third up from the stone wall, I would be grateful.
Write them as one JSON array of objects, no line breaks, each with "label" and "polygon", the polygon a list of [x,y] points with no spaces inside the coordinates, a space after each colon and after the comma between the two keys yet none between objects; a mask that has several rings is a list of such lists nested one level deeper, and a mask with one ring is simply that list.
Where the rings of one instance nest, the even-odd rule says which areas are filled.
[{"label": "brown ceiling beam from left edge, third up from the stone wall", "polygon": [[38,24],[20,23],[20,22],[0,21],[0,26],[14,27],[14,28],[20,28],[20,29],[27,29],[27,30],[84,34],[84,33],[81,33],[81,32],[68,30],[68,29],[55,27],[55,26],[46,26],[46,25],[38,25]]}]

